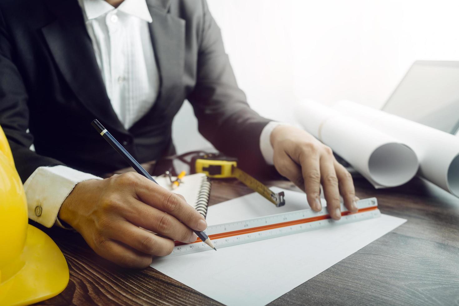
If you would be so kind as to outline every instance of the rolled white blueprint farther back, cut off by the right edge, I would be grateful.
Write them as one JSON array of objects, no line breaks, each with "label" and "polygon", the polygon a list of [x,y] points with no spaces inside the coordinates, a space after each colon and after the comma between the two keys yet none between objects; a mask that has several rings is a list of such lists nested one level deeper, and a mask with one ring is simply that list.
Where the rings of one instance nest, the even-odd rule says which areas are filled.
[{"label": "rolled white blueprint farther back, cut off by the right edge", "polygon": [[409,145],[419,158],[419,175],[459,197],[457,136],[352,101],[339,101],[334,109]]}]

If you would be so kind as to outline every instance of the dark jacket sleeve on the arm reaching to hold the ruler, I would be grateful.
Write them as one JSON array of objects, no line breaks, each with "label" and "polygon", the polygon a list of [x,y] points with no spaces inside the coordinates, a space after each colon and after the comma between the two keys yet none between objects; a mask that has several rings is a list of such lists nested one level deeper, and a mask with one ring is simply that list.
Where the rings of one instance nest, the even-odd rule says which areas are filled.
[{"label": "dark jacket sleeve on the arm reaching to hold the ruler", "polygon": [[269,119],[260,117],[246,102],[225,53],[217,23],[205,0],[199,39],[196,86],[187,97],[198,119],[199,132],[217,150],[237,157],[248,171],[266,167],[260,135]]}]

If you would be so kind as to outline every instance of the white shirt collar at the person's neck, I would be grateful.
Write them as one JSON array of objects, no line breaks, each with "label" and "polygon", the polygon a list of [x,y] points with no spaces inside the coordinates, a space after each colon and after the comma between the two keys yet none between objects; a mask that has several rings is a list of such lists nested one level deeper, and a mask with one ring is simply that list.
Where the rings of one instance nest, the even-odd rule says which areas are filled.
[{"label": "white shirt collar at the person's neck", "polygon": [[95,19],[109,11],[122,11],[126,14],[138,17],[146,22],[152,22],[146,0],[124,0],[117,8],[114,8],[105,0],[78,0],[87,20]]}]

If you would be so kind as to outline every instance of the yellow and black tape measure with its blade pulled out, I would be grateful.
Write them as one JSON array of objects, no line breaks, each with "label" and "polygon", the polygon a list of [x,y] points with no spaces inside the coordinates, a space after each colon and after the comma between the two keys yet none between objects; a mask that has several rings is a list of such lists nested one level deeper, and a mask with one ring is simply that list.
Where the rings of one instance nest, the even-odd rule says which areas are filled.
[{"label": "yellow and black tape measure with its blade pulled out", "polygon": [[275,193],[256,178],[239,169],[235,158],[209,153],[194,158],[193,166],[195,172],[205,173],[210,178],[237,178],[275,206],[285,205],[284,192]]}]

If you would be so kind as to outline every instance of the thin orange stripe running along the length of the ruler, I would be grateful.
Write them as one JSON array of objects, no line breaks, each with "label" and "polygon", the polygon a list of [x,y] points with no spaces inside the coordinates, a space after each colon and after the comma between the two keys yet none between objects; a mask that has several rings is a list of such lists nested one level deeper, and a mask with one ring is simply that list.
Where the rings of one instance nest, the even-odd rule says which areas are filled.
[{"label": "thin orange stripe running along the length of the ruler", "polygon": [[[357,212],[354,212],[354,213],[372,211],[376,209],[378,209],[378,206],[365,207],[365,208],[359,209]],[[346,216],[349,214],[351,214],[350,211],[341,212],[341,216]],[[258,226],[256,228],[240,229],[240,230],[232,231],[228,233],[213,234],[213,235],[209,235],[209,238],[210,239],[220,239],[220,238],[226,238],[226,237],[231,237],[235,235],[255,233],[255,232],[264,231],[268,229],[284,228],[284,227],[291,226],[291,225],[309,223],[309,222],[325,220],[325,219],[330,219],[330,215],[323,215],[323,216],[310,217],[310,218],[305,218],[305,219],[300,219],[300,220],[293,220],[293,221],[287,221],[287,222],[282,222],[282,223],[263,225],[263,226]],[[197,242],[202,242],[202,240],[198,238],[196,239],[195,242],[192,242],[192,243],[197,243]],[[178,246],[178,245],[188,245],[188,244],[180,242],[180,241],[175,241],[175,246]]]}]

